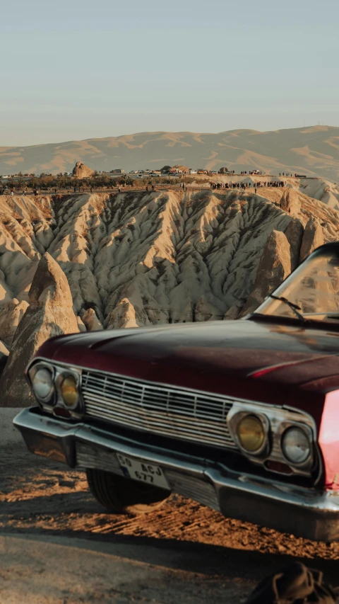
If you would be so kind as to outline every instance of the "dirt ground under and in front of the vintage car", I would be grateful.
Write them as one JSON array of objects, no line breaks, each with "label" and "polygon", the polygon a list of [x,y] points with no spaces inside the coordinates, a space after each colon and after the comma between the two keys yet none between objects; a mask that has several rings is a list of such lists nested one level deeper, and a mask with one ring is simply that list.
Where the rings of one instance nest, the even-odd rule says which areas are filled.
[{"label": "dirt ground under and in front of the vintage car", "polygon": [[295,559],[339,584],[339,543],[223,518],[179,496],[150,515],[109,515],[83,473],[21,444],[0,454],[1,604],[23,594],[25,604],[235,604]]}]

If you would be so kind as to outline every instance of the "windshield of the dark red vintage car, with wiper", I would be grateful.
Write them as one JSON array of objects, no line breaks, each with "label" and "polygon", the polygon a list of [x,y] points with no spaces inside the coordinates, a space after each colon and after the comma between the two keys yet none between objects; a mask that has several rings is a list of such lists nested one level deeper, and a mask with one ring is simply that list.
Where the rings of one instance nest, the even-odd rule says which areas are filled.
[{"label": "windshield of the dark red vintage car, with wiper", "polygon": [[339,245],[312,253],[266,298],[256,314],[339,322]]}]

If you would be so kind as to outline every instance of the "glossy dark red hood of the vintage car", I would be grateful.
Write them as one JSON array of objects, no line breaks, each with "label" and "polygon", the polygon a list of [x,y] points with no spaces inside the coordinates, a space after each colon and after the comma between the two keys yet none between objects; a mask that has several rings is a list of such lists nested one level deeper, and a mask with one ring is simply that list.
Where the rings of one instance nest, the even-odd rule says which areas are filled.
[{"label": "glossy dark red hood of the vintage car", "polygon": [[276,404],[339,387],[339,333],[253,318],[58,336],[37,354]]}]

